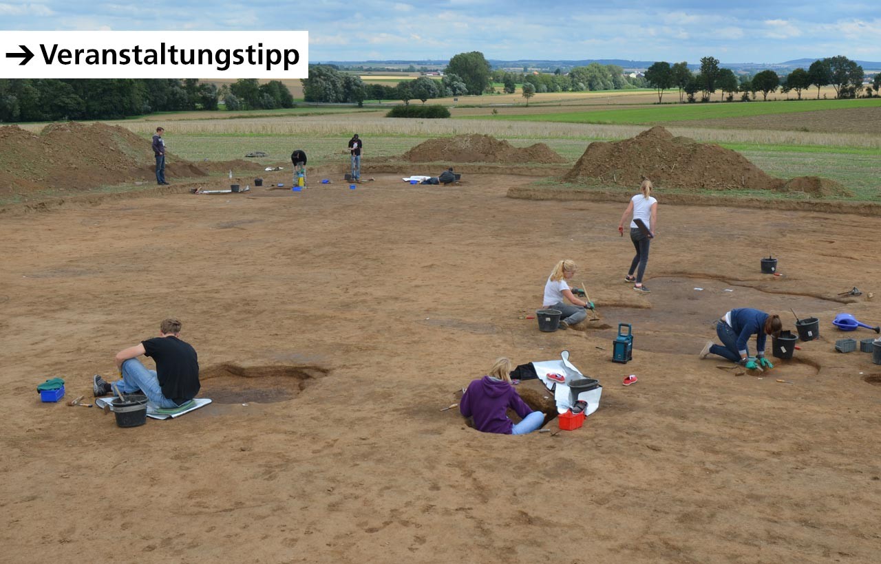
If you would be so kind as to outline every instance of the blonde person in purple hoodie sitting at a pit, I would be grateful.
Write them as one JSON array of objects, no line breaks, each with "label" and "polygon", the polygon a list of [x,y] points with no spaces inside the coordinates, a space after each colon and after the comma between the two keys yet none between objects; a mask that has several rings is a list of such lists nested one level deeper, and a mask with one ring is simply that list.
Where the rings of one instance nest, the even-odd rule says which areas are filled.
[{"label": "blonde person in purple hoodie sitting at a pit", "polygon": [[[459,401],[459,411],[474,420],[478,431],[526,435],[544,424],[544,413],[532,411],[511,384],[513,368],[510,359],[497,359],[487,376],[471,381]],[[506,414],[508,407],[520,415],[522,421],[515,425]]]}]

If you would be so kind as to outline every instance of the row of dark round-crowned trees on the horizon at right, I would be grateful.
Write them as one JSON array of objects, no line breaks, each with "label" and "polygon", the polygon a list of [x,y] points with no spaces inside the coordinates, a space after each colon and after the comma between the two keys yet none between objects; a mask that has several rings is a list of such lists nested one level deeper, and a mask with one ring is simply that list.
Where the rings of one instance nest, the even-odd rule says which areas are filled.
[{"label": "row of dark round-crowned trees on the horizon at right", "polygon": [[[663,92],[670,88],[677,88],[680,102],[683,95],[693,102],[699,93],[700,101],[708,102],[714,92],[722,92],[722,98],[729,101],[737,92],[741,93],[743,101],[749,101],[750,94],[755,99],[757,92],[761,92],[762,99],[767,99],[767,95],[778,88],[783,93],[796,92],[798,99],[802,99],[802,91],[811,86],[817,87],[819,98],[820,88],[829,84],[833,85],[837,98],[855,98],[860,94],[864,77],[862,67],[844,55],[818,59],[808,70],[796,69],[785,77],[780,77],[774,70],[762,70],[753,77],[737,77],[730,69],[720,69],[719,60],[714,57],[700,59],[697,74],[688,69],[687,62],[672,65],[665,61],[655,62],[646,70],[646,81],[655,88],[658,103],[662,101]],[[878,82],[876,77],[876,91]],[[871,95],[870,88],[867,91]]]}]

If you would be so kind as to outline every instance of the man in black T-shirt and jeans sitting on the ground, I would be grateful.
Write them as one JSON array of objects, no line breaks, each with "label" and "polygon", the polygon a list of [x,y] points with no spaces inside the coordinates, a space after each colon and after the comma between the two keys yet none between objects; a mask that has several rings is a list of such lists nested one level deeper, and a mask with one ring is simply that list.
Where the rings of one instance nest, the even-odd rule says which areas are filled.
[{"label": "man in black T-shirt and jeans sitting on the ground", "polygon": [[[159,337],[116,353],[116,369],[121,380],[115,385],[122,393],[143,392],[157,407],[181,407],[199,392],[199,361],[196,350],[181,341],[181,322],[164,319]],[[156,370],[147,370],[137,356],[146,355],[156,362]],[[93,382],[95,397],[113,392],[112,386],[100,376]]]}]

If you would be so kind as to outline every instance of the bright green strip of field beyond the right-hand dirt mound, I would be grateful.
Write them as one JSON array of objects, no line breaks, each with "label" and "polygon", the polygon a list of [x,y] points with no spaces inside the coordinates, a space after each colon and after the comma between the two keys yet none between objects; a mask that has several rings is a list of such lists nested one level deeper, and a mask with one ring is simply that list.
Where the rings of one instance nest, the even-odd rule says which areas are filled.
[{"label": "bright green strip of field beyond the right-hand dirt mound", "polygon": [[461,120],[562,121],[568,123],[648,124],[671,121],[712,120],[752,115],[791,114],[855,107],[881,107],[881,99],[789,100],[770,102],[728,102],[716,104],[670,104],[591,112],[546,114],[496,114],[463,116]]}]

